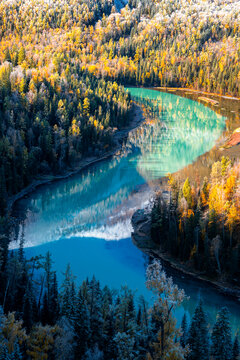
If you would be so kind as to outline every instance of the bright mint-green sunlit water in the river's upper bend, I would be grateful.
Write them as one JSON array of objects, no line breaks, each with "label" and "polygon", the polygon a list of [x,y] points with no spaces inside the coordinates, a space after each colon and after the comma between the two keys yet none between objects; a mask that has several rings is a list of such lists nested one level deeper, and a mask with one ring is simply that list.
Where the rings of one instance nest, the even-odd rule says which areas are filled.
[{"label": "bright mint-green sunlit water in the river's upper bend", "polygon": [[[175,172],[209,151],[221,135],[225,119],[201,103],[156,90],[128,88],[133,99],[150,102],[159,117],[136,132],[140,147],[135,159],[146,180]],[[142,133],[142,135],[141,135]]]}]

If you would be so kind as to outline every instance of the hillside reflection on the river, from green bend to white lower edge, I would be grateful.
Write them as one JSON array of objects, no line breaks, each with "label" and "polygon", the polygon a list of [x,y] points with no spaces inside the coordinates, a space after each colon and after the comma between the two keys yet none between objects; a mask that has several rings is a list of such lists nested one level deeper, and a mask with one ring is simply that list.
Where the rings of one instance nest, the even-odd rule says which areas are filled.
[{"label": "hillside reflection on the river, from green bend to white lower edge", "polygon": [[223,130],[224,118],[197,102],[154,90],[129,91],[151,109],[152,120],[129,134],[120,156],[20,201],[18,209],[25,209],[26,215],[26,246],[62,236],[130,236],[132,213],[152,194],[149,186],[136,192],[137,186],[191,163]]}]

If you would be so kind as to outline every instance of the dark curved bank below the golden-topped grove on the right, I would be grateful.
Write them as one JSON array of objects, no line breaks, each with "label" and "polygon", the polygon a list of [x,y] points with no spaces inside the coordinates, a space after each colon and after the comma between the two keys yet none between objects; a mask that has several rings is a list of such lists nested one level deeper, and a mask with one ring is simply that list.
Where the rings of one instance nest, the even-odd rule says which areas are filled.
[{"label": "dark curved bank below the golden-topped grove on the right", "polygon": [[229,283],[209,279],[205,274],[193,271],[185,264],[170,257],[169,254],[161,252],[159,246],[151,240],[151,215],[149,209],[137,210],[134,213],[132,217],[132,227],[132,242],[143,253],[151,258],[160,259],[163,265],[171,267],[198,281],[205,282],[214,287],[221,294],[230,296],[240,302],[240,289],[238,287],[234,287]]}]

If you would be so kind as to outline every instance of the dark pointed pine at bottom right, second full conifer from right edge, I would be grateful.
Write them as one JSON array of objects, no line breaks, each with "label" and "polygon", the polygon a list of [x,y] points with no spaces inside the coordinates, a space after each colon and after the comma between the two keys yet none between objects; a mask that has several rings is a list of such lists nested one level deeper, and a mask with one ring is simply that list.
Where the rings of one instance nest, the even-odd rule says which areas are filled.
[{"label": "dark pointed pine at bottom right, second full conifer from right edge", "polygon": [[229,311],[222,308],[212,331],[211,355],[214,360],[231,360],[232,336],[229,320]]}]

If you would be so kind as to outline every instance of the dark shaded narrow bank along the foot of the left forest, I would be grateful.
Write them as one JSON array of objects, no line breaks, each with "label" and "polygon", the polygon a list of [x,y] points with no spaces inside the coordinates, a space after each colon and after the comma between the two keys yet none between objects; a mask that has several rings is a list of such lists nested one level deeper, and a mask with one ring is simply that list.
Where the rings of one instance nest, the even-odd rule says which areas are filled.
[{"label": "dark shaded narrow bank along the foot of the left forest", "polygon": [[117,155],[118,152],[122,148],[123,141],[127,138],[128,134],[135,130],[138,126],[140,126],[145,118],[143,116],[143,111],[141,106],[137,104],[133,104],[132,107],[132,116],[131,121],[129,122],[127,127],[122,128],[121,130],[115,131],[113,135],[113,142],[115,146],[112,147],[109,151],[104,152],[101,156],[91,156],[83,158],[74,168],[65,169],[62,173],[57,175],[42,175],[36,178],[30,185],[22,189],[19,193],[11,196],[8,199],[7,205],[7,213],[10,214],[12,210],[13,204],[22,199],[23,197],[31,194],[34,190],[36,190],[39,186],[46,185],[52,183],[54,181],[67,179],[70,176],[73,176],[80,172],[81,170],[87,168],[90,165],[96,164],[99,161],[103,161],[108,159],[111,156]]}]

